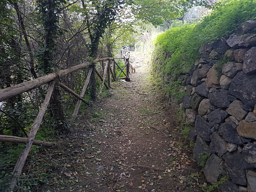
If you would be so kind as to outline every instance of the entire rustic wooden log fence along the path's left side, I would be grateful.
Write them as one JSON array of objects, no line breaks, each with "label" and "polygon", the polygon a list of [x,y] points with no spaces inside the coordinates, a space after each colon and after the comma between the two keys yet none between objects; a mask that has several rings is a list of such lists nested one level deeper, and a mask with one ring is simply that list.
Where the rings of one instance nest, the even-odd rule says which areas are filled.
[{"label": "entire rustic wooden log fence along the path's left side", "polygon": [[[57,86],[57,85],[60,86],[61,88],[65,89],[66,91],[68,91],[69,93],[71,93],[72,95],[74,95],[78,99],[77,105],[76,105],[76,107],[74,109],[74,112],[73,112],[73,115],[72,115],[72,119],[75,119],[82,101],[85,104],[91,104],[89,101],[86,101],[85,99],[83,99],[83,96],[84,96],[86,88],[89,84],[93,67],[94,67],[94,70],[96,71],[96,74],[102,80],[101,86],[99,88],[99,94],[102,93],[103,85],[105,85],[105,87],[107,89],[111,87],[111,81],[110,81],[111,78],[113,78],[113,81],[116,81],[118,79],[125,79],[126,81],[130,81],[130,78],[129,78],[129,50],[123,49],[121,52],[122,52],[122,55],[123,55],[122,58],[96,59],[93,62],[85,62],[85,63],[82,63],[80,65],[72,66],[68,69],[64,69],[62,71],[58,71],[58,72],[55,72],[55,73],[48,74],[44,77],[39,77],[37,79],[30,80],[30,81],[27,81],[27,82],[23,82],[21,84],[14,85],[12,87],[4,88],[4,89],[0,90],[0,101],[4,101],[8,98],[11,98],[13,96],[17,96],[21,93],[25,93],[25,92],[30,91],[34,88],[37,88],[41,85],[44,85],[45,83],[50,82],[49,88],[47,90],[46,97],[45,97],[44,102],[43,102],[43,104],[40,108],[40,111],[39,111],[39,113],[38,113],[38,115],[37,115],[37,117],[36,117],[36,119],[33,123],[33,126],[30,130],[30,133],[28,134],[28,138],[0,135],[0,142],[27,143],[27,145],[25,145],[24,151],[22,151],[22,154],[21,154],[21,156],[19,157],[19,159],[16,163],[16,166],[14,167],[14,170],[13,170],[13,173],[12,173],[13,178],[11,179],[11,184],[8,188],[9,192],[13,191],[15,185],[17,184],[17,179],[19,178],[19,176],[22,172],[22,169],[25,165],[25,161],[28,157],[28,154],[29,154],[29,151],[30,151],[30,148],[32,147],[32,145],[43,145],[43,146],[52,146],[52,145],[54,145],[54,143],[35,140],[35,137],[36,137],[36,133],[39,129],[39,126],[41,124],[41,121],[43,119],[44,113],[46,112],[47,106],[50,102],[50,98],[51,98],[51,95],[52,95],[52,92],[53,92],[55,86]],[[116,62],[115,59],[124,59],[124,61],[125,61],[124,67],[121,68],[118,65],[118,63]],[[106,66],[105,66],[105,70],[104,70],[104,73],[103,73],[103,77],[101,76],[101,74],[99,74],[99,72],[96,70],[95,65],[94,65],[95,63],[100,62],[100,61],[106,61]],[[112,62],[112,67],[111,67],[111,62]],[[117,77],[116,77],[116,66],[121,70]],[[85,80],[85,84],[83,85],[83,89],[82,89],[80,95],[78,95],[77,93],[72,91],[70,88],[68,88],[63,83],[57,81],[59,79],[59,77],[64,77],[65,75],[67,75],[71,72],[78,71],[78,70],[83,69],[85,67],[90,67],[90,70],[88,72],[87,78]],[[124,72],[125,67],[126,67],[126,72],[127,73]],[[124,75],[125,75],[124,78],[123,77],[119,78],[121,73],[124,73]],[[107,83],[105,82],[106,75],[108,77]],[[1,111],[4,112],[2,109],[1,109]]]}]

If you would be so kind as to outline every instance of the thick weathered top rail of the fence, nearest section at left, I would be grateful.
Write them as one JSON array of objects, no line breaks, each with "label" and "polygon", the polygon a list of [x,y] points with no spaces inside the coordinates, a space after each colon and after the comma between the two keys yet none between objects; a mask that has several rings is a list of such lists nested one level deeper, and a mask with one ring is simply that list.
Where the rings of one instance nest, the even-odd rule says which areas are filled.
[{"label": "thick weathered top rail of the fence, nearest section at left", "polygon": [[0,101],[4,101],[4,100],[6,100],[10,97],[17,96],[21,93],[30,91],[34,88],[39,87],[40,85],[43,85],[47,82],[50,82],[50,81],[54,80],[56,77],[63,77],[66,74],[69,74],[73,71],[77,71],[79,69],[82,69],[82,68],[85,68],[85,67],[88,67],[88,66],[91,66],[91,65],[92,65],[92,63],[85,62],[85,63],[82,63],[80,65],[73,66],[73,67],[70,67],[68,69],[64,69],[62,71],[57,71],[55,73],[48,74],[44,77],[39,77],[37,79],[27,81],[27,82],[23,82],[23,83],[20,83],[18,85],[14,85],[12,87],[4,88],[4,89],[0,90]]}]

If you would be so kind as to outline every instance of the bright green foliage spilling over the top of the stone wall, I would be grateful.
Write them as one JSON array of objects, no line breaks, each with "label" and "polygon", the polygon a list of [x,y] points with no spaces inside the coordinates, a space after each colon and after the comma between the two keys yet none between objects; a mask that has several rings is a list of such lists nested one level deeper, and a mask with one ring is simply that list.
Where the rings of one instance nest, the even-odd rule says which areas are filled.
[{"label": "bright green foliage spilling over the top of the stone wall", "polygon": [[228,37],[242,22],[256,19],[255,7],[255,0],[221,0],[200,23],[173,27],[157,37],[152,57],[154,76],[168,94],[176,96],[176,102],[181,102],[185,95],[182,86],[188,70],[198,59],[198,49]]}]

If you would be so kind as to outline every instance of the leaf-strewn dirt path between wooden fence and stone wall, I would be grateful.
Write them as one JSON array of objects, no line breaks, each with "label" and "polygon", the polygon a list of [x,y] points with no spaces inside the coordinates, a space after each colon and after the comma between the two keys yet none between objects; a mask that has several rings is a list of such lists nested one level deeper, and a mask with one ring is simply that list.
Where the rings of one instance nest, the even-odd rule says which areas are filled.
[{"label": "leaf-strewn dirt path between wooden fence and stone wall", "polygon": [[75,121],[72,134],[45,153],[48,183],[38,191],[202,191],[176,111],[162,104],[143,56],[132,56],[132,81],[113,82]]}]

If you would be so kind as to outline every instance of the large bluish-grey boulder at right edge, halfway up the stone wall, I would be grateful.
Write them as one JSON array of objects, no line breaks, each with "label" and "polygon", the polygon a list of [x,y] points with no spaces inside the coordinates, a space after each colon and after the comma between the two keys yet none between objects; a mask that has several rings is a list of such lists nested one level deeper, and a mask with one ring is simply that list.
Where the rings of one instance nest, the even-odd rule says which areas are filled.
[{"label": "large bluish-grey boulder at right edge, halfway up the stone wall", "polygon": [[247,75],[242,71],[233,78],[228,91],[244,104],[254,108],[256,104],[256,74]]}]

